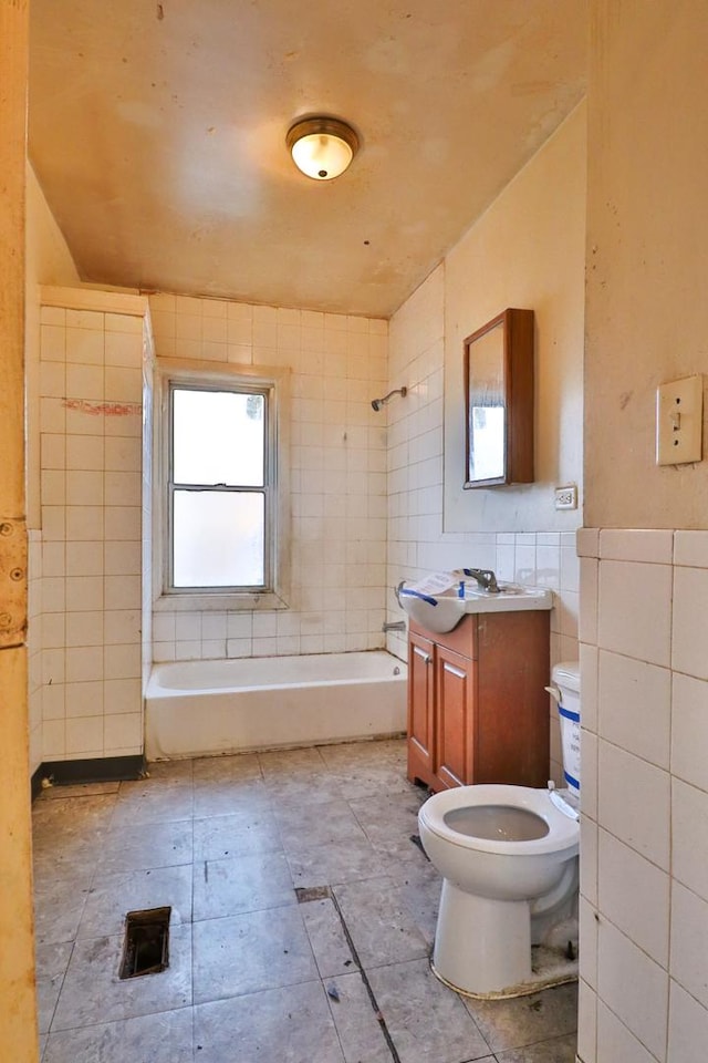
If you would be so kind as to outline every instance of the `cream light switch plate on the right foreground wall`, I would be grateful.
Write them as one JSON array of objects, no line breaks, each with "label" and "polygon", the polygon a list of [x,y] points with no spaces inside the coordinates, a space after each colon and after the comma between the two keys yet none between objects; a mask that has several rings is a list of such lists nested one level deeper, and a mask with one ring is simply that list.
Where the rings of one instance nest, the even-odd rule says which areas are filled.
[{"label": "cream light switch plate on the right foreground wall", "polygon": [[660,384],[656,392],[656,464],[699,462],[702,420],[702,376],[685,376]]}]

